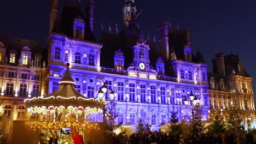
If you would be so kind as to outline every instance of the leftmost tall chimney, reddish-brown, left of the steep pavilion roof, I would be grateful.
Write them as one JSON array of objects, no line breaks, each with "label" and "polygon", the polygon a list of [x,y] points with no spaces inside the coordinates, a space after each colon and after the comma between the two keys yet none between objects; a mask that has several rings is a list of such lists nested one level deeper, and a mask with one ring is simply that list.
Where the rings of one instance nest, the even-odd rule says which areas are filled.
[{"label": "leftmost tall chimney, reddish-brown, left of the steep pavilion roof", "polygon": [[49,34],[53,31],[58,12],[58,0],[51,0]]}]

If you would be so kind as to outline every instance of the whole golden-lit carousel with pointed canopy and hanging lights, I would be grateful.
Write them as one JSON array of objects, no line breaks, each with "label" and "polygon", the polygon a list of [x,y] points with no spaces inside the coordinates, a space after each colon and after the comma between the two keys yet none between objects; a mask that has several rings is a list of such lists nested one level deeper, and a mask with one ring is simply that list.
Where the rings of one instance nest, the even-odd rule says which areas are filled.
[{"label": "whole golden-lit carousel with pointed canopy and hanging lights", "polygon": [[[63,129],[76,128],[80,134],[84,130],[97,130],[97,122],[103,121],[103,105],[95,98],[85,98],[74,87],[67,63],[66,73],[59,82],[60,87],[46,97],[33,97],[25,100],[29,129],[38,130],[41,142],[71,142],[71,136]],[[83,135],[83,134],[82,134]],[[53,140],[55,139],[55,140]]]}]

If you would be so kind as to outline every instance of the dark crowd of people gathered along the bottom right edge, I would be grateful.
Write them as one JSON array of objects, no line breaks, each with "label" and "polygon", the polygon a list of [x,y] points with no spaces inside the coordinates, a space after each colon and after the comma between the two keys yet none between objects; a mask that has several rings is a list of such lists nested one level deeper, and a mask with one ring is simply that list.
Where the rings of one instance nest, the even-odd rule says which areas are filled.
[{"label": "dark crowd of people gathered along the bottom right edge", "polygon": [[[235,139],[235,136],[232,134],[201,134],[201,135],[184,135],[182,133],[164,133],[154,131],[153,133],[135,133],[130,136],[126,134],[124,137],[124,143],[126,144],[149,144],[149,143],[157,143],[157,144],[165,144],[165,143],[173,143],[173,144],[198,144],[198,143],[207,143],[207,144],[229,144],[229,143],[248,143],[254,144],[256,143],[256,133],[251,134],[247,133],[245,136],[241,137],[241,139]],[[238,142],[239,141],[239,142]]]}]

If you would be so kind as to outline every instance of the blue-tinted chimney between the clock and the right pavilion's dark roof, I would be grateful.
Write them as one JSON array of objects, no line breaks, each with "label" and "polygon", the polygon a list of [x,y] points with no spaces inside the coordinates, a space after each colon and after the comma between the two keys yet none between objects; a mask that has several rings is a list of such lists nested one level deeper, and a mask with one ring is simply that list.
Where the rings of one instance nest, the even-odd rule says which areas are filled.
[{"label": "blue-tinted chimney between the clock and the right pavilion's dark roof", "polygon": [[161,57],[167,61],[169,59],[169,41],[168,41],[168,23],[164,22],[161,26],[158,27],[159,36],[160,36],[160,53]]}]

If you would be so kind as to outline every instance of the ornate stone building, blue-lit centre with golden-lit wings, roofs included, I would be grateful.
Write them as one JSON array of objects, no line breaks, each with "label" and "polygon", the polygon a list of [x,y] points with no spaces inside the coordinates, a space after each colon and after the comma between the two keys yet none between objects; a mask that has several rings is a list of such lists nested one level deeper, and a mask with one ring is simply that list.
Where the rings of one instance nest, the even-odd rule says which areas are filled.
[{"label": "ornate stone building, blue-lit centre with golden-lit wings, roofs included", "polygon": [[135,126],[141,118],[159,128],[169,123],[173,107],[179,121],[189,121],[191,101],[186,106],[184,99],[191,93],[199,99],[206,119],[214,109],[228,112],[231,101],[244,118],[255,119],[252,78],[237,56],[216,55],[213,73],[207,74],[200,50],[196,55],[191,52],[189,29],[172,29],[165,22],[158,28],[159,47],[155,37],[152,42],[143,39],[133,0],[125,0],[121,29],[116,26],[112,32],[102,25],[100,41],[92,33],[94,1],[86,5],[85,14],[75,2],[66,1],[63,8],[57,5],[57,0],[51,1],[48,56],[43,57],[33,41],[0,38],[4,115],[18,119],[24,115],[19,111],[25,111],[25,98],[53,93],[70,63],[75,88],[84,97],[97,98],[103,83],[108,91],[113,89],[117,121],[123,124]]}]

